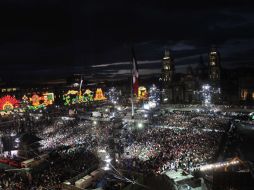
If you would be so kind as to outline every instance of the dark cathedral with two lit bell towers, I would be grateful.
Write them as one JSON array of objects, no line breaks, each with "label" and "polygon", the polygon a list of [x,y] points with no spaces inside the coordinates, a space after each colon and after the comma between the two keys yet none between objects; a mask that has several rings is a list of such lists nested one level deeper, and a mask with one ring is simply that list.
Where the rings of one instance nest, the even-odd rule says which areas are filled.
[{"label": "dark cathedral with two lit bell towers", "polygon": [[169,50],[165,50],[160,78],[162,102],[204,103],[203,98],[209,90],[208,99],[219,104],[221,102],[221,64],[219,52],[215,47],[211,48],[208,59],[208,65],[205,65],[203,58],[200,57],[195,68],[188,66],[185,73],[176,73],[173,55]]}]

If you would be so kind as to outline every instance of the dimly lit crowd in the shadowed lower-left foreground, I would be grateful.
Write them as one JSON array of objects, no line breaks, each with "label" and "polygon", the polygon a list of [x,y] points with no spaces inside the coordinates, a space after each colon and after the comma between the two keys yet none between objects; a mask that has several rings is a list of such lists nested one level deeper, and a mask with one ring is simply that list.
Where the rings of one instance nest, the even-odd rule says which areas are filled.
[{"label": "dimly lit crowd in the shadowed lower-left foreground", "polygon": [[61,184],[97,165],[93,153],[83,146],[65,147],[50,153],[43,164],[31,171],[0,170],[0,189],[61,189]]}]

